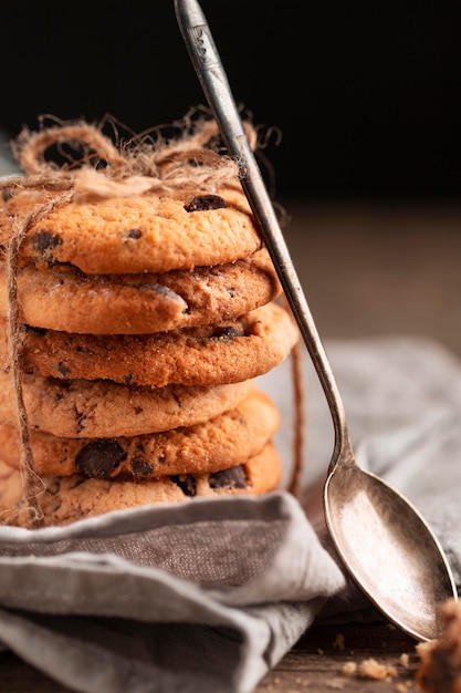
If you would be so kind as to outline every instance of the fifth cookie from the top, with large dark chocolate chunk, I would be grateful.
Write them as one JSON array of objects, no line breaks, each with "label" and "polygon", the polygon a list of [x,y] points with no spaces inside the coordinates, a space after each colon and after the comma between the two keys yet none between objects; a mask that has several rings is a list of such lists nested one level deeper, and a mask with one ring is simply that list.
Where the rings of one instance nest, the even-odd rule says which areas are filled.
[{"label": "fifth cookie from the top, with large dark chocolate chunk", "polygon": [[[43,476],[82,474],[96,478],[147,478],[217,472],[243,464],[277,431],[279,410],[253,391],[237,407],[195,426],[133,437],[60,438],[30,432],[34,470]],[[18,466],[14,426],[0,426],[2,458]]]}]

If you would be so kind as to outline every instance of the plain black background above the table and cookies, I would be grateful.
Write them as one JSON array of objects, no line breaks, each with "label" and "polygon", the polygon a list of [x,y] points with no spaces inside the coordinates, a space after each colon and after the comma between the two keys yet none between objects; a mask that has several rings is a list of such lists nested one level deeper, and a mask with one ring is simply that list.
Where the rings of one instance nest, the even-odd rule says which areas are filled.
[{"label": "plain black background above the table and cookies", "polygon": [[[235,101],[282,134],[276,196],[455,199],[461,3],[203,0]],[[2,7],[0,126],[40,114],[136,132],[205,102],[174,3]]]}]

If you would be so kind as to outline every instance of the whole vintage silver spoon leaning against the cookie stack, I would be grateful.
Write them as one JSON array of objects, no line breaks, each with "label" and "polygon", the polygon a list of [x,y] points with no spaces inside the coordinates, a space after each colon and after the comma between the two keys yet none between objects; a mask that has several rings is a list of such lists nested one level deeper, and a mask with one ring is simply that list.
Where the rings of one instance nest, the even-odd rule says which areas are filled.
[{"label": "whole vintage silver spoon leaning against the cookie stack", "polygon": [[237,110],[210,29],[196,0],[175,0],[192,64],[259,221],[293,316],[322,383],[335,445],[324,486],[328,531],[345,568],[371,602],[418,640],[440,635],[439,607],[457,598],[443,550],[417,509],[355,462],[331,365]]}]

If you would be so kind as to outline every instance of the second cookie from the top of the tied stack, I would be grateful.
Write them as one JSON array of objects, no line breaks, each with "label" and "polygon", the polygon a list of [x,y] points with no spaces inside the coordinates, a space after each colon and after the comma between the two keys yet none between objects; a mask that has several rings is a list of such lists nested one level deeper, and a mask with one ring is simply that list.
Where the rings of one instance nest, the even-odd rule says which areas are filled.
[{"label": "second cookie from the top of the tied stack", "polygon": [[[18,272],[20,320],[36,328],[88,334],[143,334],[222,324],[281,293],[269,254],[235,262],[143,275],[84,275],[72,269]],[[7,316],[7,271],[0,263],[0,314]]]}]

